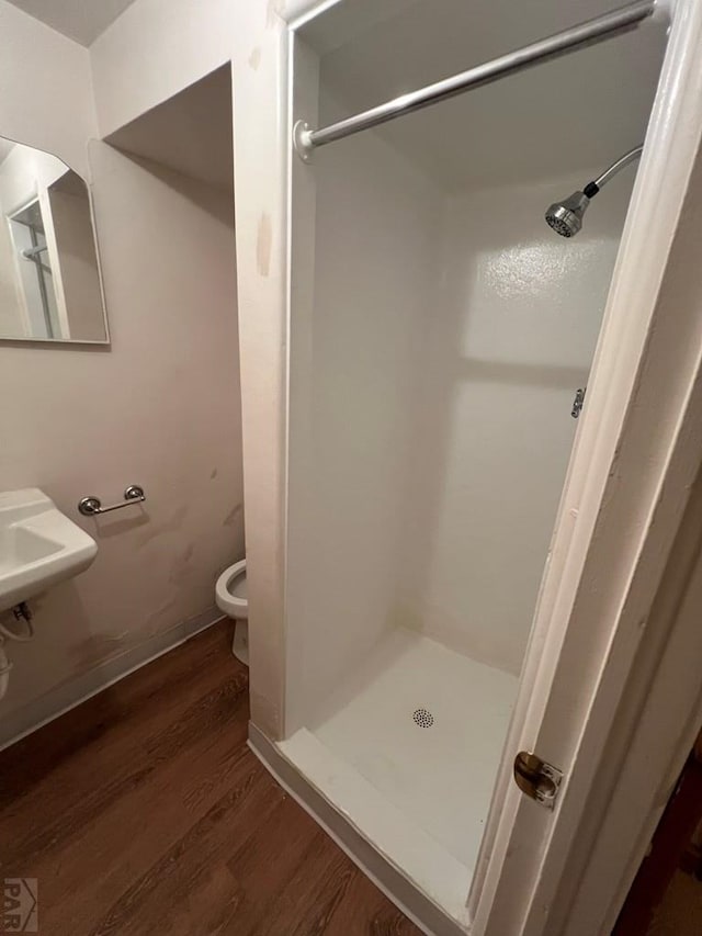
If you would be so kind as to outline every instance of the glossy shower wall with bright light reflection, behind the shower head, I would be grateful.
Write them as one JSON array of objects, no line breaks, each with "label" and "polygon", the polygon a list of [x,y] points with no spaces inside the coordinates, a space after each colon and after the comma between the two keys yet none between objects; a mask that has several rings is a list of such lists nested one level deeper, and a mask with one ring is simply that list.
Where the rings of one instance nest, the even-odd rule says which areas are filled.
[{"label": "glossy shower wall with bright light reflection, behind the shower head", "polygon": [[426,325],[397,621],[519,673],[633,173],[571,239],[544,222],[579,174],[446,201]]}]

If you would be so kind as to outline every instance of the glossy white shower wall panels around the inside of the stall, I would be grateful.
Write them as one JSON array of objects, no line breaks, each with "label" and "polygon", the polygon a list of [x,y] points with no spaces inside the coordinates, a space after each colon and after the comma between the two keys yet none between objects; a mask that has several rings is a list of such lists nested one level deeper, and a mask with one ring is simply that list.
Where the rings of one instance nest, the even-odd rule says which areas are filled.
[{"label": "glossy white shower wall panels around the inside of the stall", "polygon": [[393,627],[519,675],[633,183],[565,240],[543,214],[585,171],[448,192],[366,133],[314,172],[287,734]]}]

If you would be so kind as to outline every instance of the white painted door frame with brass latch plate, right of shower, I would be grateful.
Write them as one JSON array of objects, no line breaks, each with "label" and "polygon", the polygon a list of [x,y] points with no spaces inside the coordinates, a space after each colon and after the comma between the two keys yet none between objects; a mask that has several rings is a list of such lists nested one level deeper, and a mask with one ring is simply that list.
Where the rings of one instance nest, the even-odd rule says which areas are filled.
[{"label": "white painted door frame with brass latch plate, right of shower", "polygon": [[[654,599],[661,582],[686,587],[666,564],[702,464],[700,47],[702,8],[680,0],[469,900],[480,936],[610,933],[665,803],[655,792],[699,729],[681,726],[665,764],[631,743],[646,695],[670,680]],[[520,751],[563,773],[553,809],[517,788]]]}]

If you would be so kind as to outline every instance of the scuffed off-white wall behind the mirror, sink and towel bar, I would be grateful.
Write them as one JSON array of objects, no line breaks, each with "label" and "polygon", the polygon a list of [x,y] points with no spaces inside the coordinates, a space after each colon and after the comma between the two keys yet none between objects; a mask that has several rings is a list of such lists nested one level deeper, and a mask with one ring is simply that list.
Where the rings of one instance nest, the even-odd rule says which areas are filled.
[{"label": "scuffed off-white wall behind the mirror, sink and towel bar", "polygon": [[[12,54],[0,55],[10,89],[0,133],[33,127],[24,142],[41,139],[84,171],[95,135],[78,93],[80,86],[90,98],[88,53],[76,56],[84,68],[71,108],[58,110],[59,133],[45,105],[52,82],[65,89],[73,75],[73,44],[29,18],[15,32],[4,7],[0,52]],[[55,44],[57,55],[34,60],[31,49],[43,44]],[[14,55],[20,46],[24,59]],[[67,64],[59,65],[61,53]],[[30,86],[32,67],[38,78]],[[13,128],[2,123],[8,115],[18,117]],[[0,393],[13,401],[0,413],[0,435],[10,440],[0,451],[0,489],[42,487],[95,537],[99,554],[87,573],[36,602],[35,642],[12,645],[0,740],[50,714],[47,706],[70,698],[71,685],[100,685],[120,659],[168,645],[191,619],[213,620],[216,575],[244,554],[230,196],[104,144],[90,154],[112,346],[0,347]],[[129,483],[144,485],[144,509],[78,516],[81,496],[118,499]]]}]

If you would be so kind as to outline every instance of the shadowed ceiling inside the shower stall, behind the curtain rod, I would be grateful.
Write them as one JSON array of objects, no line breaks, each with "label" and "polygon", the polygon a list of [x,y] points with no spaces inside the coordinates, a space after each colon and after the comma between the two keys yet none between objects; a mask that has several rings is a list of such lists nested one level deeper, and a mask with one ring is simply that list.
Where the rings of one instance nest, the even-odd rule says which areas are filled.
[{"label": "shadowed ceiling inside the shower stall, behind the curtain rod", "polygon": [[[369,0],[355,2],[361,11]],[[372,11],[354,22],[348,13],[342,19],[346,5],[303,32],[321,54],[322,124],[620,3],[530,0],[524,15],[516,0],[373,0]],[[449,191],[604,168],[643,139],[664,52],[665,29],[647,22],[374,132]],[[325,147],[319,158],[333,158],[343,145]]]}]

